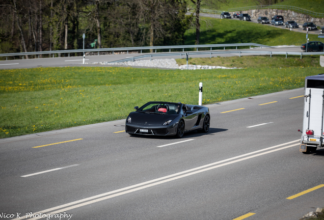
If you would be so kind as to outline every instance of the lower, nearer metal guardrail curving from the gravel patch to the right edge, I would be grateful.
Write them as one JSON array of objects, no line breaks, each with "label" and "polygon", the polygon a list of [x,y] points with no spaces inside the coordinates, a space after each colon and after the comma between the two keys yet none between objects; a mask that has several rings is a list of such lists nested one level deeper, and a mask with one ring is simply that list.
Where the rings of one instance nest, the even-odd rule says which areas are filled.
[{"label": "lower, nearer metal guardrail curving from the gravel patch to the right edge", "polygon": [[115,63],[122,63],[122,62],[127,62],[127,61],[136,61],[136,60],[140,60],[143,58],[150,58],[150,60],[152,60],[152,57],[168,57],[168,56],[180,56],[180,59],[182,59],[182,56],[185,56],[186,59],[188,59],[188,57],[190,55],[198,55],[198,54],[209,54],[210,58],[211,58],[211,54],[224,54],[224,53],[239,53],[239,57],[241,57],[242,53],[254,53],[254,54],[258,54],[258,55],[266,55],[269,54],[270,57],[272,57],[272,55],[286,55],[286,58],[288,55],[297,55],[297,56],[302,56],[306,55],[324,55],[324,52],[284,52],[284,51],[247,51],[247,50],[239,50],[239,51],[209,51],[209,52],[185,52],[185,53],[161,53],[161,54],[145,54],[142,56],[137,56],[137,57],[132,57],[132,58],[126,58],[126,59],[122,59],[122,60],[118,60],[118,61],[112,61],[112,62],[107,62],[109,64],[115,64]]}]

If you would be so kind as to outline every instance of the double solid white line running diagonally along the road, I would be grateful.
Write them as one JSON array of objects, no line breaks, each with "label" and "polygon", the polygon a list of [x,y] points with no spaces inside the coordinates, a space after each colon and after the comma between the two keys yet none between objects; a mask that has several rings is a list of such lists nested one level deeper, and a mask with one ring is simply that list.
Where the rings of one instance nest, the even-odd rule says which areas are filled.
[{"label": "double solid white line running diagonally along the road", "polygon": [[[276,145],[276,146],[273,146],[273,147],[268,147],[268,148],[265,148],[265,149],[257,150],[257,151],[251,152],[251,153],[242,154],[242,155],[235,156],[235,157],[232,157],[232,158],[228,158],[228,159],[225,159],[225,160],[221,160],[221,161],[217,161],[217,162],[214,162],[214,163],[206,164],[206,165],[198,167],[198,168],[193,168],[191,170],[182,171],[182,172],[172,174],[172,175],[169,175],[169,176],[149,180],[149,181],[146,181],[146,182],[143,182],[143,183],[139,183],[139,184],[128,186],[128,187],[121,188],[121,189],[116,189],[114,191],[99,194],[99,195],[96,195],[96,196],[93,196],[93,197],[85,198],[85,199],[82,199],[82,200],[77,200],[77,201],[70,202],[70,203],[67,203],[67,204],[63,204],[63,205],[60,205],[60,206],[56,206],[56,207],[53,207],[53,208],[49,208],[49,209],[45,209],[45,210],[42,210],[42,211],[34,212],[33,214],[36,215],[36,214],[39,214],[39,213],[48,213],[50,211],[57,210],[57,209],[60,209],[60,210],[50,212],[50,214],[56,214],[56,213],[60,213],[60,212],[63,212],[63,211],[68,211],[68,210],[71,210],[73,208],[85,206],[85,205],[95,203],[95,202],[98,202],[98,201],[102,201],[102,200],[110,199],[110,198],[117,197],[117,196],[120,196],[120,195],[123,195],[123,194],[131,193],[132,191],[136,191],[136,190],[144,189],[144,188],[147,188],[147,187],[150,187],[150,186],[153,186],[153,185],[158,185],[158,184],[161,184],[161,183],[169,182],[169,181],[179,179],[179,178],[182,178],[182,177],[185,177],[185,176],[190,176],[190,175],[196,174],[198,172],[206,171],[207,169],[211,170],[211,169],[226,166],[228,164],[238,162],[238,161],[241,161],[241,160],[250,159],[250,158],[260,156],[260,155],[263,155],[263,154],[272,153],[272,152],[275,152],[275,151],[278,151],[278,150],[283,150],[283,149],[286,149],[286,148],[289,148],[289,147],[297,146],[297,145],[299,145],[299,143],[298,144],[292,144],[292,143],[299,142],[299,141],[300,140],[295,140],[295,141],[287,142],[287,143],[284,143],[284,144]],[[288,144],[292,144],[292,145],[289,145],[289,146],[286,146],[286,147],[283,147],[283,148],[277,148],[277,147],[281,147],[281,146],[288,145]],[[274,149],[274,148],[277,148],[277,149]],[[228,162],[228,163],[223,163],[223,162],[226,162],[226,161],[229,161],[229,160],[237,159],[237,158],[240,158],[240,157],[245,157],[245,156],[248,156],[248,155],[251,155],[251,154],[255,154],[255,153],[259,153],[259,152],[266,151],[266,150],[271,150],[271,149],[274,149],[274,150],[267,151],[267,152],[260,153],[260,154],[256,154],[256,155],[246,157],[246,158],[242,158],[242,159],[239,159],[239,160],[234,160],[234,161],[231,161],[231,162]],[[215,167],[207,168],[207,167],[210,167],[210,166],[214,166],[215,164],[219,164],[219,163],[223,163],[223,164],[220,164],[220,165],[215,166]],[[206,169],[205,170],[200,170],[200,169],[203,169],[203,168],[206,168]],[[197,171],[197,170],[200,170],[200,171]],[[194,172],[194,171],[196,171],[196,172]],[[190,173],[190,172],[193,172],[193,173]],[[186,173],[188,173],[188,174],[186,174]],[[182,175],[182,176],[179,176],[179,175]],[[169,179],[169,178],[172,178],[172,179]],[[162,181],[162,180],[164,180],[164,181]],[[158,182],[158,181],[160,181],[160,182]],[[147,184],[149,184],[149,185],[147,185]],[[136,187],[138,187],[138,188],[136,188]],[[125,190],[127,190],[127,191],[125,191]],[[121,192],[121,193],[119,193],[119,192]],[[114,195],[111,195],[111,194],[114,194]],[[111,195],[111,196],[108,196],[108,195]],[[100,197],[102,197],[102,198],[100,198]],[[97,198],[99,198],[99,199],[97,199]],[[78,204],[78,203],[80,203],[80,204]],[[78,205],[75,205],[75,204],[78,204]],[[72,205],[74,205],[74,206],[72,206]],[[68,206],[70,206],[70,207],[68,207]],[[68,208],[65,208],[65,207],[68,207]],[[18,220],[18,219],[23,219],[23,218],[26,218],[26,216],[23,216],[21,218],[15,218],[15,219],[12,219],[12,220]],[[38,218],[33,218],[33,219],[36,220]]]}]

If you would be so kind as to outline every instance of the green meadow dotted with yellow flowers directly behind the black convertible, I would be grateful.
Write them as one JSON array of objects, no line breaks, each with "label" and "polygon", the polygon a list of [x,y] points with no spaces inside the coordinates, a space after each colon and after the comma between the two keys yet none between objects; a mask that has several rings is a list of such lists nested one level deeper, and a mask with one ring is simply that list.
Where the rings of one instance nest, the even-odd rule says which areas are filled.
[{"label": "green meadow dotted with yellow flowers directly behind the black convertible", "polygon": [[[134,106],[152,100],[198,104],[199,82],[204,85],[203,104],[208,104],[301,88],[305,76],[322,73],[318,57],[305,58],[303,66],[298,58],[283,61],[286,65],[281,68],[262,64],[268,62],[272,66],[270,63],[276,62],[275,59],[286,60],[250,57],[249,62],[255,63],[253,68],[233,70],[114,67],[1,70],[0,137],[124,119]],[[212,62],[224,63],[222,59]],[[247,60],[236,57],[226,62],[226,65],[240,62],[244,65]],[[311,65],[306,67],[307,63]]]}]

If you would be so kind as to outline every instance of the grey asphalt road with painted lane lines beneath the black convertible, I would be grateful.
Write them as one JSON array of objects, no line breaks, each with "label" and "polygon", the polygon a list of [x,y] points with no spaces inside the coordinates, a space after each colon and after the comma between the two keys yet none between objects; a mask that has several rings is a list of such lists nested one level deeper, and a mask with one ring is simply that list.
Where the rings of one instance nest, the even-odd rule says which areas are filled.
[{"label": "grey asphalt road with painted lane lines beneath the black convertible", "polygon": [[210,104],[209,133],[182,139],[124,120],[2,139],[0,216],[300,219],[324,198],[324,149],[299,152],[303,95]]}]

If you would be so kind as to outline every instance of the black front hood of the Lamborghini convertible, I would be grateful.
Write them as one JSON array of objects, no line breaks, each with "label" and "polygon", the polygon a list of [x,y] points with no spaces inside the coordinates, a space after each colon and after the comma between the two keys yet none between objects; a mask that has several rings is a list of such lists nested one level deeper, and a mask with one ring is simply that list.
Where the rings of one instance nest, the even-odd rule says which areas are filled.
[{"label": "black front hood of the Lamborghini convertible", "polygon": [[173,120],[178,116],[179,115],[150,114],[140,112],[132,112],[129,114],[129,117],[131,117],[131,123],[145,125],[162,125],[166,121]]}]

